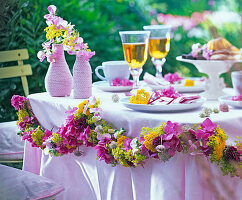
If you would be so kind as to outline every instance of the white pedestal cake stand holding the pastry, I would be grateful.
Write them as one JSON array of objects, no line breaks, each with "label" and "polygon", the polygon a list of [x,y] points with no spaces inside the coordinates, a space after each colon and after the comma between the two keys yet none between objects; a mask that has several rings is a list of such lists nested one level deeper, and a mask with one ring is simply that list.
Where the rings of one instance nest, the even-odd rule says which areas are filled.
[{"label": "white pedestal cake stand holding the pastry", "polygon": [[208,75],[205,92],[201,96],[209,100],[217,100],[218,97],[225,95],[223,92],[224,83],[221,83],[220,74],[229,71],[234,63],[242,62],[242,60],[191,60],[184,59],[181,56],[176,57],[177,60],[193,64],[199,72]]}]

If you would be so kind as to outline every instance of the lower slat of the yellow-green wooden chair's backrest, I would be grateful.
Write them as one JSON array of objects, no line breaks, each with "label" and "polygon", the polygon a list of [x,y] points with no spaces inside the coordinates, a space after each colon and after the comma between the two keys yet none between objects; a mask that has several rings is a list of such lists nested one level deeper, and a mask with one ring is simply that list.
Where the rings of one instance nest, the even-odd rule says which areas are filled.
[{"label": "lower slat of the yellow-green wooden chair's backrest", "polygon": [[0,78],[12,78],[16,76],[28,76],[32,75],[32,69],[30,65],[21,65],[13,67],[0,68]]}]

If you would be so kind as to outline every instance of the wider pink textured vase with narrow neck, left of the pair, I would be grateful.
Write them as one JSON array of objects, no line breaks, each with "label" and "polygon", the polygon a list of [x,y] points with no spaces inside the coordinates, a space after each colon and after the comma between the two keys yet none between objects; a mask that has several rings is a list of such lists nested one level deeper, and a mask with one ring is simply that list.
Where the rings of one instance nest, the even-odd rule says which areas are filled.
[{"label": "wider pink textured vase with narrow neck, left of the pair", "polygon": [[53,97],[70,96],[72,75],[66,63],[62,44],[53,44],[55,62],[51,62],[45,77],[46,91]]}]

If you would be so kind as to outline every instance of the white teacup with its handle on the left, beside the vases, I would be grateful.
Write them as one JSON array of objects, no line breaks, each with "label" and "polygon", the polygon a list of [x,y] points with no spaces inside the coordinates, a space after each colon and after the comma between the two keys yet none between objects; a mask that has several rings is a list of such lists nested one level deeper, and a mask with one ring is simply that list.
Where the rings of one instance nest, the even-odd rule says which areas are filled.
[{"label": "white teacup with its handle on the left, beside the vases", "polygon": [[[102,69],[104,76],[99,74],[99,70]],[[129,65],[126,61],[107,61],[103,62],[101,66],[96,67],[95,74],[98,78],[109,83],[115,78],[129,79]]]}]

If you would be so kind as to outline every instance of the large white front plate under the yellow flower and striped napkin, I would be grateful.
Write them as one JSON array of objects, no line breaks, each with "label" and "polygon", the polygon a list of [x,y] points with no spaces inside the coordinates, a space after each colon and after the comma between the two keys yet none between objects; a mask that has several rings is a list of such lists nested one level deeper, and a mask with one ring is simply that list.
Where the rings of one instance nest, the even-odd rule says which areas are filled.
[{"label": "large white front plate under the yellow flower and striped napkin", "polygon": [[120,102],[127,108],[135,111],[145,112],[174,112],[174,111],[185,111],[195,108],[199,108],[206,99],[201,97],[195,103],[190,104],[169,104],[169,105],[144,105],[144,104],[132,104],[129,103],[130,97],[124,97]]}]

